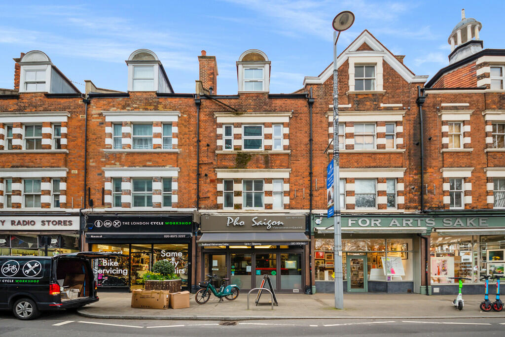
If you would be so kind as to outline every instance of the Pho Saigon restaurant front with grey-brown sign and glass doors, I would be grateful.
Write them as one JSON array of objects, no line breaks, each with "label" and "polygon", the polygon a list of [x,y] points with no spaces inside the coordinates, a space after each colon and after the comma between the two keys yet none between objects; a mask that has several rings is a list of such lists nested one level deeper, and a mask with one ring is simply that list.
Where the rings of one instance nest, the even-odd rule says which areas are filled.
[{"label": "Pho Saigon restaurant front with grey-brown sign and glass doors", "polygon": [[305,215],[202,215],[200,280],[230,278],[240,290],[260,287],[264,275],[276,292],[302,293],[308,282]]}]

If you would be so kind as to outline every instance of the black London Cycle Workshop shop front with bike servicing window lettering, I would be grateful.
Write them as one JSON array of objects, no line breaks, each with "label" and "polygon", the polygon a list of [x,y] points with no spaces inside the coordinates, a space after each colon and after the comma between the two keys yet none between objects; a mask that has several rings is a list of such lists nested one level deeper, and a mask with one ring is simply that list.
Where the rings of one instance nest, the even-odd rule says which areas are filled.
[{"label": "black London Cycle Workshop shop front with bike servicing window lettering", "polygon": [[119,252],[123,257],[95,259],[93,268],[99,290],[131,291],[143,288],[143,275],[154,263],[168,260],[191,289],[191,238],[193,216],[90,214],[86,242],[95,252]]}]

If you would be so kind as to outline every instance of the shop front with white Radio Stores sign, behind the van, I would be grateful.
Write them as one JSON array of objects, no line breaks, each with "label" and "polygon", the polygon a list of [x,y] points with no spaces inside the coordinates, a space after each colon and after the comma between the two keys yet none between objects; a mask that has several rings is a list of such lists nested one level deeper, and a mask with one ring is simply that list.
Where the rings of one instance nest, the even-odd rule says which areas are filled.
[{"label": "shop front with white Radio Stores sign, behind the van", "polygon": [[54,256],[79,251],[79,215],[0,216],[0,255]]}]

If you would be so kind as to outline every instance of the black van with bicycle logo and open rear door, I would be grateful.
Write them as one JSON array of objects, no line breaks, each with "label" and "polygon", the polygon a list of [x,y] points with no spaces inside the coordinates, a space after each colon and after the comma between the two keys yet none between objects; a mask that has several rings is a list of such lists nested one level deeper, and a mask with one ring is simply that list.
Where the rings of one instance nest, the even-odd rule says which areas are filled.
[{"label": "black van with bicycle logo and open rear door", "polygon": [[117,253],[0,256],[0,310],[28,320],[40,311],[78,308],[98,301],[91,258]]}]

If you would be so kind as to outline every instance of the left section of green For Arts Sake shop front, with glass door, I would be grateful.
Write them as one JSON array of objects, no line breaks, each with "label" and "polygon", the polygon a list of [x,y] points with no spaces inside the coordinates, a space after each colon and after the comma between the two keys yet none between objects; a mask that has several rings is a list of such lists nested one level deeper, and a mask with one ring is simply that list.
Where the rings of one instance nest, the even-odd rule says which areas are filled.
[{"label": "left section of green For Arts Sake shop front, with glass door", "polygon": [[[421,234],[416,218],[342,216],[344,292],[421,292]],[[333,218],[313,216],[316,292],[334,291]],[[415,223],[415,226],[414,226]],[[425,234],[424,234],[425,235]]]}]

